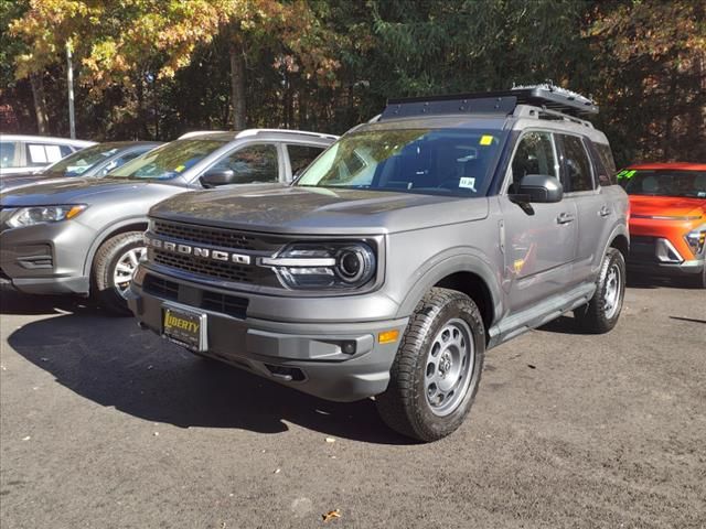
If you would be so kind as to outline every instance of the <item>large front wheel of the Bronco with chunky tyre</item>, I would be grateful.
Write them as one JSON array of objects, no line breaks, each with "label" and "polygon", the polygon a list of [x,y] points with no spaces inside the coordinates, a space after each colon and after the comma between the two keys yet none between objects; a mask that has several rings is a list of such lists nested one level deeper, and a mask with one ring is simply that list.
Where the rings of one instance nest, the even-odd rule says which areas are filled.
[{"label": "large front wheel of the Bronco with chunky tyre", "polygon": [[393,430],[419,441],[456,431],[471,409],[483,368],[485,330],[466,294],[431,289],[402,338],[377,410]]}]

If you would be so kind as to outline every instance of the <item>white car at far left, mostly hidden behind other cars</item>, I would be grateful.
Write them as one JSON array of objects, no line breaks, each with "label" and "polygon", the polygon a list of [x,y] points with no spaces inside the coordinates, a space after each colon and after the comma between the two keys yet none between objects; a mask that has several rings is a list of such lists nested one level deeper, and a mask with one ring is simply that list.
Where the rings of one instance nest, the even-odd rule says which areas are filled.
[{"label": "white car at far left, mostly hidden behind other cars", "polygon": [[0,172],[32,173],[60,161],[95,141],[69,140],[49,136],[0,134]]}]

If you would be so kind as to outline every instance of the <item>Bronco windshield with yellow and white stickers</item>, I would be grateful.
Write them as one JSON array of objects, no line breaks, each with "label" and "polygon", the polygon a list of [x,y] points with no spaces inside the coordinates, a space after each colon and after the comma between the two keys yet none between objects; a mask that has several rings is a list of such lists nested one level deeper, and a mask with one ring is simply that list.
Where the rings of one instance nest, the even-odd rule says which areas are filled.
[{"label": "Bronco windshield with yellow and white stickers", "polygon": [[352,133],[319,156],[296,185],[483,196],[504,137],[477,129]]}]

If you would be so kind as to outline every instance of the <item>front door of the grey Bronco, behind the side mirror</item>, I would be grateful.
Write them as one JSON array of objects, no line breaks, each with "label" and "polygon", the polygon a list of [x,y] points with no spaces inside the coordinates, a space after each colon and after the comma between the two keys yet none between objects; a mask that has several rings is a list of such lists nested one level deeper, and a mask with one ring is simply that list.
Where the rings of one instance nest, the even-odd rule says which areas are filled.
[{"label": "front door of the grey Bronco, behind the side mirror", "polygon": [[560,180],[552,132],[525,131],[509,172],[512,182],[500,196],[505,234],[503,276],[510,312],[517,313],[570,287],[578,223],[571,199],[523,207],[507,196],[526,174]]}]

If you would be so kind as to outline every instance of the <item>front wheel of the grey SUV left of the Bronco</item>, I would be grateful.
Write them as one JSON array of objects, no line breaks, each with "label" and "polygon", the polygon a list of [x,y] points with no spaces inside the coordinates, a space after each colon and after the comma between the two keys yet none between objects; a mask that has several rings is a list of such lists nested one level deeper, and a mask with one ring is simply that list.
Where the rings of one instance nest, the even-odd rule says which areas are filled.
[{"label": "front wheel of the grey SUV left of the Bronco", "polygon": [[100,305],[113,314],[132,315],[126,294],[146,250],[141,231],[118,234],[98,248],[93,262],[94,293]]}]

